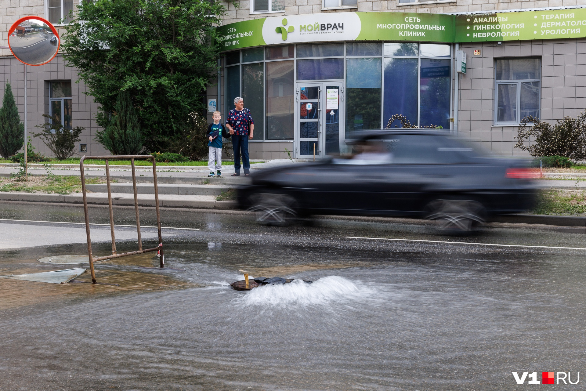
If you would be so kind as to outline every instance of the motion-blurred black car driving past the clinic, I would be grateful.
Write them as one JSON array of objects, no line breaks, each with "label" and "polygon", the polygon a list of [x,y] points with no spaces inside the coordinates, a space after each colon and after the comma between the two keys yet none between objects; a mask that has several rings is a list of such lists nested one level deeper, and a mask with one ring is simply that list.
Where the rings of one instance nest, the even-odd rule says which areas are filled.
[{"label": "motion-blurred black car driving past the clinic", "polygon": [[364,131],[348,156],[251,175],[240,208],[282,223],[310,215],[384,215],[437,220],[472,230],[488,217],[532,208],[539,171],[490,156],[445,131]]}]

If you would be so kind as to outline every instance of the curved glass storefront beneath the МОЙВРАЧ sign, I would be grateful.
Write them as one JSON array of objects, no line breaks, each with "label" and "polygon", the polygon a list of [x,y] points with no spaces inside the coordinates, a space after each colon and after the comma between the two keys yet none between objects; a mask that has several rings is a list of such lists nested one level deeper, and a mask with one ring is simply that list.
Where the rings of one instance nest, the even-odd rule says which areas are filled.
[{"label": "curved glass storefront beneath the \u041c\u041e\u0419\u0412\u0420\u0410\u0427 sign", "polygon": [[[297,133],[301,137],[311,122],[295,123],[299,86],[323,81],[329,83],[319,87],[325,93],[335,81],[340,107],[327,121],[335,119],[339,131],[326,131],[326,153],[339,150],[333,134],[342,142],[343,130],[384,128],[394,114],[411,124],[449,129],[451,54],[451,45],[404,42],[298,43],[228,52],[224,114],[234,108],[234,97],[241,96],[254,118],[253,141],[294,140],[296,129],[304,127]],[[391,126],[401,124],[394,121]]]}]

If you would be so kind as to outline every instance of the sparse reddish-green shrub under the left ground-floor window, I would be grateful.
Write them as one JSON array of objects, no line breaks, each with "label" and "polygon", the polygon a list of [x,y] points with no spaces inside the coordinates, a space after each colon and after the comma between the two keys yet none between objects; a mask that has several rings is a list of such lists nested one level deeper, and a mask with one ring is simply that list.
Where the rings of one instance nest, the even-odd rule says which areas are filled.
[{"label": "sparse reddish-green shrub under the left ground-floor window", "polygon": [[[43,114],[43,117],[52,119],[47,114]],[[35,127],[42,131],[33,133],[33,136],[40,137],[59,160],[65,160],[74,154],[75,143],[81,141],[79,135],[86,130],[82,126],[66,129],[54,119],[52,123],[46,122]]]}]

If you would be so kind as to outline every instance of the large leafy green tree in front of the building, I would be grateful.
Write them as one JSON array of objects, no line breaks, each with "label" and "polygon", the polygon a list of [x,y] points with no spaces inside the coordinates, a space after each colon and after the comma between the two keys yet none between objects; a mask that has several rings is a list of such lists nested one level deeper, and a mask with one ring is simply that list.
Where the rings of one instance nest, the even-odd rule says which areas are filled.
[{"label": "large leafy green tree in front of the building", "polygon": [[120,90],[133,97],[150,151],[168,148],[188,131],[188,115],[203,110],[200,93],[216,77],[219,1],[97,0],[81,7],[63,34],[69,66],[109,123]]}]

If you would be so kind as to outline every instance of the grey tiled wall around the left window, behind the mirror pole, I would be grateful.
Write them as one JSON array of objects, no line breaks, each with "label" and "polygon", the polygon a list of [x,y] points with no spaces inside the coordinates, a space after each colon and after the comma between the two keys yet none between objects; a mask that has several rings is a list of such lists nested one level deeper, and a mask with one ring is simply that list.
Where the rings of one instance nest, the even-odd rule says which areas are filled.
[{"label": "grey tiled wall around the left window, behind the mirror pole", "polygon": [[[77,72],[65,66],[63,57],[56,56],[50,63],[41,66],[27,66],[27,111],[28,134],[38,132],[35,125],[45,122],[43,114],[49,114],[49,85],[48,81],[71,80],[71,100],[73,110],[73,126],[83,126],[86,130],[80,135],[80,144],[87,144],[87,152],[81,155],[104,155],[107,151],[103,145],[93,141],[98,127],[94,117],[98,111],[98,104],[93,103],[90,96],[86,96],[86,86],[83,82],[75,83]],[[14,57],[0,57],[0,99],[4,97],[6,81],[12,86],[21,119],[24,120],[24,72],[23,64]],[[37,137],[32,137],[32,145],[43,155],[52,156],[53,153],[45,143]],[[76,147],[76,152],[79,147]],[[79,154],[76,154],[79,155]]]}]

